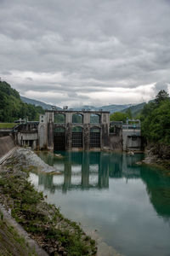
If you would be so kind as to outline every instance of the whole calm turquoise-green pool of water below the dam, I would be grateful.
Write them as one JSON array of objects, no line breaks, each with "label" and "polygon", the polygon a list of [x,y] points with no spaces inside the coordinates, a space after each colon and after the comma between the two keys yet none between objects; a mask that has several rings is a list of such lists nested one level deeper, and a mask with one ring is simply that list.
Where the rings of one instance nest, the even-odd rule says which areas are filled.
[{"label": "whole calm turquoise-green pool of water below the dam", "polygon": [[170,255],[170,177],[137,165],[142,154],[39,155],[61,174],[32,173],[31,180],[65,217],[98,230],[123,255]]}]

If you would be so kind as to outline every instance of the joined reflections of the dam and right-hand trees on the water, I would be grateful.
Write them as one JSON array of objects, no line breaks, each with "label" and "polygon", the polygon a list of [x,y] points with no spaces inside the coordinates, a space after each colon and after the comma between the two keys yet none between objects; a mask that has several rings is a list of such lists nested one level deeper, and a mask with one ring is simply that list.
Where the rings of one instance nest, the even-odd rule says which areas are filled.
[{"label": "joined reflections of the dam and right-hand trees on the water", "polygon": [[61,175],[38,174],[38,186],[51,193],[56,189],[66,193],[74,189],[109,189],[111,178],[140,178],[146,185],[150,202],[159,216],[170,216],[170,177],[150,166],[138,166],[143,154],[111,154],[106,152],[60,152],[63,158],[40,152],[48,165],[55,166]]}]

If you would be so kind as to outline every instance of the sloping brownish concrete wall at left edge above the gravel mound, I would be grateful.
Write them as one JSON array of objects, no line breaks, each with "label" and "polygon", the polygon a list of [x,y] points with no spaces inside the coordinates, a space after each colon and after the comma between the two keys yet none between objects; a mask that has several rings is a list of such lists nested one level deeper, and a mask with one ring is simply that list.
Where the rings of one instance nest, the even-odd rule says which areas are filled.
[{"label": "sloping brownish concrete wall at left edge above the gravel mound", "polygon": [[0,158],[15,147],[14,138],[10,136],[0,137]]}]

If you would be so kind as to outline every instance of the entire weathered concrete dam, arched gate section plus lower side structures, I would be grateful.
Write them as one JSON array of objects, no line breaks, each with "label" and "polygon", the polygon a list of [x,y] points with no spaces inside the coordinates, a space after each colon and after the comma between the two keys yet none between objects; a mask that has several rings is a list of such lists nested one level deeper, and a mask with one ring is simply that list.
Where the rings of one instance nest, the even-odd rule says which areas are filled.
[{"label": "entire weathered concrete dam, arched gate section plus lower side structures", "polygon": [[[7,131],[5,131],[7,133]],[[0,136],[4,137],[0,131]],[[17,145],[32,149],[139,151],[139,120],[110,122],[106,111],[46,110],[39,122],[26,121],[8,131]]]}]

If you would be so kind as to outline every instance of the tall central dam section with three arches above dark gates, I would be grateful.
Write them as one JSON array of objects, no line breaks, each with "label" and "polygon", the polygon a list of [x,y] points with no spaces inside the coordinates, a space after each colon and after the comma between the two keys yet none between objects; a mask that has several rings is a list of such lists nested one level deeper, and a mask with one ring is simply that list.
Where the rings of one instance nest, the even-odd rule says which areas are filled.
[{"label": "tall central dam section with three arches above dark gates", "polygon": [[46,110],[38,125],[39,148],[69,150],[109,148],[110,113]]}]

